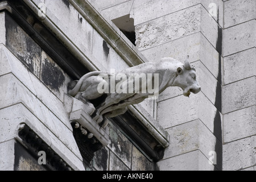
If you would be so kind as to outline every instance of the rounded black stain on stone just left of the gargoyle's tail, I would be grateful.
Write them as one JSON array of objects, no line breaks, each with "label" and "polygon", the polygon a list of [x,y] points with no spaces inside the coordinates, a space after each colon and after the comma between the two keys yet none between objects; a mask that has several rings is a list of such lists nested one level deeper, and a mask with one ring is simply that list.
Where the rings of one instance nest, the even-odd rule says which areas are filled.
[{"label": "rounded black stain on stone just left of the gargoyle's tail", "polygon": [[56,63],[44,59],[41,80],[44,84],[49,86],[49,88],[58,91],[65,82],[65,76],[61,69],[57,67]]}]

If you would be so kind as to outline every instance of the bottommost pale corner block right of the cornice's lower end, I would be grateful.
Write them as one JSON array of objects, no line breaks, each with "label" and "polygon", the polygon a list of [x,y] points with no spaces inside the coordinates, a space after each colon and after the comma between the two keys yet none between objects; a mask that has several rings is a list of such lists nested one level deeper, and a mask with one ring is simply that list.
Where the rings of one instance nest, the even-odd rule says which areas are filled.
[{"label": "bottommost pale corner block right of the cornice's lower end", "polygon": [[157,163],[160,171],[213,171],[214,166],[200,150],[188,152]]}]

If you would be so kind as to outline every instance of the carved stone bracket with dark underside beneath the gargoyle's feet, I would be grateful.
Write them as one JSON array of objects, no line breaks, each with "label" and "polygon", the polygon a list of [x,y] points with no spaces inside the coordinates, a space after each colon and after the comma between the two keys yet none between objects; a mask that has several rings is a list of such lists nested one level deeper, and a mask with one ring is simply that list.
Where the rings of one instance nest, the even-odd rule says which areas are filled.
[{"label": "carved stone bracket with dark underside beneath the gargoyle's feet", "polygon": [[90,166],[94,152],[109,144],[108,126],[102,128],[89,114],[90,107],[73,98],[73,107],[69,117],[73,135],[82,158]]}]

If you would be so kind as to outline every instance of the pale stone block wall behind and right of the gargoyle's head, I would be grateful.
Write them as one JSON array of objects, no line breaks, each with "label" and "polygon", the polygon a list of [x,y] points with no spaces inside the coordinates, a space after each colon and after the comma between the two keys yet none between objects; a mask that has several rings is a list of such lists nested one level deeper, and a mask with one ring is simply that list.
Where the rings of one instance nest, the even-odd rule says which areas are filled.
[{"label": "pale stone block wall behind and right of the gargoyle's head", "polygon": [[149,61],[189,55],[196,67],[200,93],[168,88],[147,103],[170,134],[159,169],[255,169],[255,1],[91,1],[110,19],[134,18]]}]

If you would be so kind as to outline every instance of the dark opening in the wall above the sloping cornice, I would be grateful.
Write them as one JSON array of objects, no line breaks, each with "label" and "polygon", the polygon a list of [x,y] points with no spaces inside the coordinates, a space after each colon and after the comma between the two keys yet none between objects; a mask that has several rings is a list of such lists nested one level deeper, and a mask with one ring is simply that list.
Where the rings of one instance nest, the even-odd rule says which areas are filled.
[{"label": "dark opening in the wall above the sloping cornice", "polygon": [[130,18],[130,15],[121,16],[119,18],[113,19],[112,22],[117,26],[123,34],[135,45],[136,36],[135,36],[135,27],[134,19]]}]

